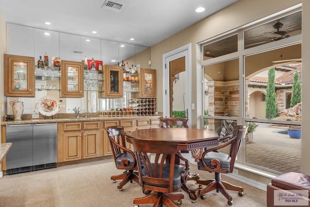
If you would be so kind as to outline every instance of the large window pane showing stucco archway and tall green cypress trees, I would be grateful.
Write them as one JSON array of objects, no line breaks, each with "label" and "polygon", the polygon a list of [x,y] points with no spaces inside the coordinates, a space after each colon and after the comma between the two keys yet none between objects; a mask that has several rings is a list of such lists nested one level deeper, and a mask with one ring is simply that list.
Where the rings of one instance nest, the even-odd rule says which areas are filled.
[{"label": "large window pane showing stucco archway and tall green cypress trees", "polygon": [[301,75],[301,44],[247,56],[247,117],[301,121]]}]

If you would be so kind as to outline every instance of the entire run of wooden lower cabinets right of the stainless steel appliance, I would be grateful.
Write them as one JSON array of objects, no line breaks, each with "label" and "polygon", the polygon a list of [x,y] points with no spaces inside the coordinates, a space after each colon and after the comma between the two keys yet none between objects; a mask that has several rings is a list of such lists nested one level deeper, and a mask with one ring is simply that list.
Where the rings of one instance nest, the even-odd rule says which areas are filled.
[{"label": "entire run of wooden lower cabinets right of the stainless steel appliance", "polygon": [[[58,123],[57,162],[112,155],[106,127],[123,126],[126,133],[159,127],[159,119],[119,119]],[[126,143],[133,150],[131,143]]]}]

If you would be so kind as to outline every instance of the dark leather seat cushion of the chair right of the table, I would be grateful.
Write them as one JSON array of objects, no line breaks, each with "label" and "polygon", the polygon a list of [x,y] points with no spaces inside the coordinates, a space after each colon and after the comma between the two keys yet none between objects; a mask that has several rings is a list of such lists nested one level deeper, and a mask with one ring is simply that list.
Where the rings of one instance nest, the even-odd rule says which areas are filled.
[{"label": "dark leather seat cushion of the chair right of the table", "polygon": [[[229,155],[220,153],[220,152],[209,152],[204,156],[204,163],[211,169],[216,168],[216,166],[211,165],[212,159],[218,159],[221,163],[221,169],[229,170],[231,167],[231,157]],[[202,165],[202,159],[199,159],[198,166]]]}]

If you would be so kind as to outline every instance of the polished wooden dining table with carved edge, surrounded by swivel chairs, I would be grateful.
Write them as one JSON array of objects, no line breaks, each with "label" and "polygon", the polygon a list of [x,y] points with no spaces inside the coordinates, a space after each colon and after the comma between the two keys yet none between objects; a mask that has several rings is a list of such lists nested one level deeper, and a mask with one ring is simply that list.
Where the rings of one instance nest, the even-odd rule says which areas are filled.
[{"label": "polished wooden dining table with carved edge, surrounded by swivel chairs", "polygon": [[[173,142],[177,141],[178,150],[189,151],[203,149],[206,147],[218,145],[218,135],[216,131],[203,130],[198,128],[148,128],[138,129],[126,134],[126,140],[130,139],[156,140]],[[199,155],[197,155],[199,156]],[[195,158],[195,157],[194,157]],[[195,159],[198,159],[196,157]],[[184,183],[182,189],[187,192],[189,198],[196,200],[198,193],[196,190],[189,189]]]}]

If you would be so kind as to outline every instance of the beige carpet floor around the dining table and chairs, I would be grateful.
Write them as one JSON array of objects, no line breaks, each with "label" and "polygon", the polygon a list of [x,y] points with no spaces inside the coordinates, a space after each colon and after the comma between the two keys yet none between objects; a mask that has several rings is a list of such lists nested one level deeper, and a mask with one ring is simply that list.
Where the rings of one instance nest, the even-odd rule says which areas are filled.
[{"label": "beige carpet floor around the dining table and chairs", "polygon": [[[190,164],[191,173],[199,173],[201,179],[212,179],[214,174],[199,171]],[[0,207],[133,207],[133,199],[143,197],[139,184],[127,183],[123,191],[117,189],[110,180],[111,175],[121,174],[113,159],[103,159],[67,165],[0,178]],[[266,192],[248,186],[222,175],[222,179],[244,188],[244,195],[229,191],[233,197],[233,207],[265,207]],[[197,189],[195,181],[188,186]],[[182,191],[182,193],[184,193]],[[206,199],[200,197],[191,203],[188,195],[182,200],[182,207],[224,207],[226,198],[216,191],[208,192]],[[141,204],[140,207],[153,205]]]}]

